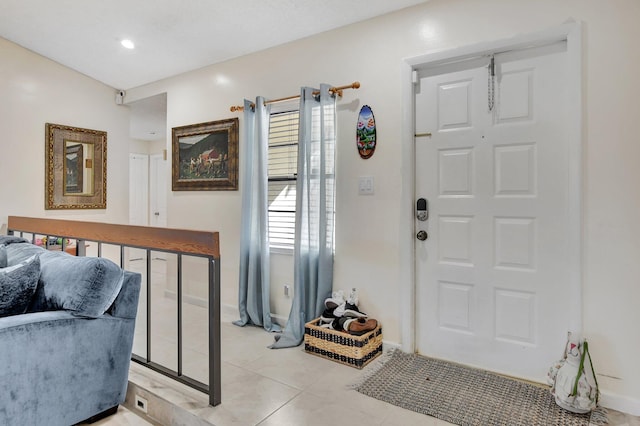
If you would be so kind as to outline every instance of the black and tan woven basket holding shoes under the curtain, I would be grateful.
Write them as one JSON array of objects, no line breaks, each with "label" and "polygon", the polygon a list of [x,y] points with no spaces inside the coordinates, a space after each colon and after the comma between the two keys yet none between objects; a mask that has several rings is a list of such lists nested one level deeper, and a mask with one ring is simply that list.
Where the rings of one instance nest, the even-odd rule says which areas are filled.
[{"label": "black and tan woven basket holding shoes under the curtain", "polygon": [[318,325],[320,319],[309,321],[304,326],[304,350],[333,361],[362,368],[382,353],[382,328],[362,336],[344,331],[330,330]]}]

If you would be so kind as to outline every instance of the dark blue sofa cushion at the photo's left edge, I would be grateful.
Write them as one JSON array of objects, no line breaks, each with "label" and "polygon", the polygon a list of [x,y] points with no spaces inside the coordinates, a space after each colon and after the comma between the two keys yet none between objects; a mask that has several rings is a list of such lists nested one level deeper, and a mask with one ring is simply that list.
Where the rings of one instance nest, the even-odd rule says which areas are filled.
[{"label": "dark blue sofa cushion at the photo's left edge", "polygon": [[0,317],[24,314],[38,285],[40,259],[29,259],[0,269]]}]

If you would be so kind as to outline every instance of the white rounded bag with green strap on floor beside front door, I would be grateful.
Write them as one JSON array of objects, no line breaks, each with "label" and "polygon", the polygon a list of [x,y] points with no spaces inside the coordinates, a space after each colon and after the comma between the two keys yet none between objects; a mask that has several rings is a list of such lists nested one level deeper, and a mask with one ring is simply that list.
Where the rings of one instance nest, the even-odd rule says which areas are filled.
[{"label": "white rounded bag with green strap on floor beside front door", "polygon": [[598,382],[585,339],[569,333],[564,356],[551,366],[547,381],[556,403],[565,410],[588,413],[597,407]]}]

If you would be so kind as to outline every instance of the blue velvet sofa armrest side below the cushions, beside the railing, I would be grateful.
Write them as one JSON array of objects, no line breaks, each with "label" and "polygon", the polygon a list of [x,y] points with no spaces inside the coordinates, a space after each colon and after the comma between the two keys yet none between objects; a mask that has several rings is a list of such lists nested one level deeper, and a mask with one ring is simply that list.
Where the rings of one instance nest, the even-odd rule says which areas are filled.
[{"label": "blue velvet sofa armrest side below the cushions, beside the railing", "polygon": [[0,424],[69,425],[124,401],[134,319],[0,318]]}]

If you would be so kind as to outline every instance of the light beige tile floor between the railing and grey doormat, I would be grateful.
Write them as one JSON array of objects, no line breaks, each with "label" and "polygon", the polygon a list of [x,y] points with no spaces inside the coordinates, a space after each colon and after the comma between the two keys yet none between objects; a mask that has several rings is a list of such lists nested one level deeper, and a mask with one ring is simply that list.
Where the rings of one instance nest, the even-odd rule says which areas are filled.
[{"label": "light beige tile floor between the railing and grey doormat", "polygon": [[[205,310],[203,310],[205,311]],[[190,315],[198,315],[192,313]],[[366,397],[349,385],[363,370],[304,352],[302,347],[271,350],[273,336],[256,327],[237,327],[235,318],[222,321],[222,404],[209,407],[204,394],[148,369],[132,364],[130,380],[189,412],[168,423],[217,426],[424,425],[447,422]],[[199,353],[195,351],[194,353]],[[206,377],[206,358],[190,360],[196,375]],[[150,413],[153,407],[150,408]],[[159,414],[158,417],[162,417]],[[148,425],[128,410],[101,425]],[[640,426],[640,418],[612,411],[611,426]]]}]

